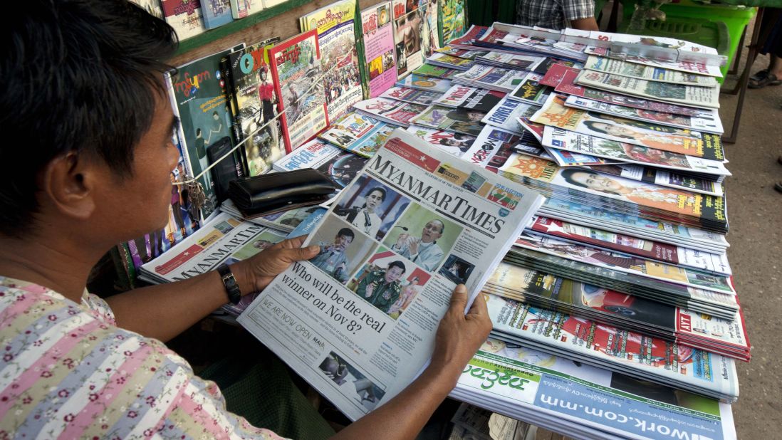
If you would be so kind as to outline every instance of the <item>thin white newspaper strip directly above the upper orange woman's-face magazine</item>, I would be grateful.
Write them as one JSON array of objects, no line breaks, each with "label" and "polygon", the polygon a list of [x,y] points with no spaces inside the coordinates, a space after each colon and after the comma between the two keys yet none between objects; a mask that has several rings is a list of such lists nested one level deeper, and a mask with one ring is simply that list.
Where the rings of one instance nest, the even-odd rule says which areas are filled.
[{"label": "thin white newspaper strip directly above the upper orange woman's-face magazine", "polygon": [[565,106],[576,109],[591,110],[612,116],[624,117],[630,120],[640,120],[647,123],[658,123],[668,127],[686,128],[687,130],[703,131],[705,133],[723,134],[723,123],[719,113],[712,110],[710,115],[684,116],[674,113],[655,112],[654,110],[634,109],[629,106],[608,104],[589,98],[570,95],[565,100]]}]

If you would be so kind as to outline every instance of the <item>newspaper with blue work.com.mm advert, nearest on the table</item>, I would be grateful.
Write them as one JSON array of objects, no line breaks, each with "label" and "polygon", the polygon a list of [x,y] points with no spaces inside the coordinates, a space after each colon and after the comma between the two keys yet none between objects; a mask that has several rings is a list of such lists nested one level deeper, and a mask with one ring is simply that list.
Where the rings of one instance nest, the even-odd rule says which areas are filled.
[{"label": "newspaper with blue work.com.mm advert, nearest on the table", "polygon": [[726,403],[497,339],[451,396],[574,438],[736,438]]}]

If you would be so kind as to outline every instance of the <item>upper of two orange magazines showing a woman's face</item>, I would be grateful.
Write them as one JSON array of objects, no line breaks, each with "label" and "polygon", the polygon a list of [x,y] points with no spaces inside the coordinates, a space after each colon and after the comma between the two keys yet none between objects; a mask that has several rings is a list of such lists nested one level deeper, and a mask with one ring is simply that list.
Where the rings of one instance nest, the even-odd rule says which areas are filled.
[{"label": "upper of two orange magazines showing a woman's face", "polygon": [[[596,138],[640,145],[665,152],[724,162],[723,143],[717,134],[628,120],[565,106],[565,97],[551,95],[531,118],[533,122]],[[555,145],[554,145],[555,146]]]}]

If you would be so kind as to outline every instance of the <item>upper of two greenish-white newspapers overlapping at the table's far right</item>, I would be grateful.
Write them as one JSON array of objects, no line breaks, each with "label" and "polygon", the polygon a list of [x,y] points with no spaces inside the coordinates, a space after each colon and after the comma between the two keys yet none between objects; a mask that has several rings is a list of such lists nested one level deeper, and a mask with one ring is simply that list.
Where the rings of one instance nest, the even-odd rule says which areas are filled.
[{"label": "upper of two greenish-white newspapers overlapping at the table's far right", "polygon": [[603,58],[594,55],[590,55],[587,62],[584,63],[584,69],[612,73],[621,77],[631,77],[639,80],[659,81],[663,83],[712,87],[717,85],[717,80],[714,77],[707,77],[694,73],[682,73],[676,70],[644,66],[644,64],[638,63],[627,63],[619,59]]}]

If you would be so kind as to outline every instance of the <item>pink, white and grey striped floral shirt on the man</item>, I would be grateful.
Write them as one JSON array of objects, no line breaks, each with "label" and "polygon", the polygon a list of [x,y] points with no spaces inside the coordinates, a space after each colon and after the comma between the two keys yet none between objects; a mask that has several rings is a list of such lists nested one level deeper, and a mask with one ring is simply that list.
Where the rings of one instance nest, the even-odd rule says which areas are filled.
[{"label": "pink, white and grey striped floral shirt on the man", "polygon": [[0,277],[0,439],[268,438],[163,342],[81,304]]}]

